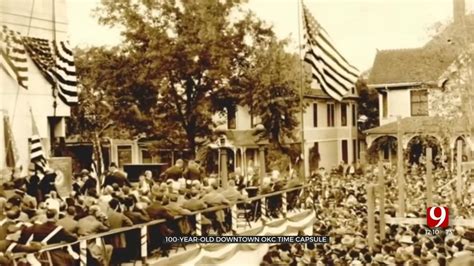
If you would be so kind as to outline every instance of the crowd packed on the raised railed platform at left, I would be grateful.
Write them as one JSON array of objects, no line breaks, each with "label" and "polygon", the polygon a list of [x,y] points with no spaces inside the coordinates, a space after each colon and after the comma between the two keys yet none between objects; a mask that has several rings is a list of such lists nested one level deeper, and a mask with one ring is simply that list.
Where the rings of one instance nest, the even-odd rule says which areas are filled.
[{"label": "crowd packed on the raised railed platform at left", "polygon": [[[253,175],[243,177],[237,169],[230,175],[228,187],[222,188],[215,176],[204,176],[196,162],[190,161],[185,167],[183,160],[177,160],[158,177],[145,171],[136,183],[129,182],[114,163],[103,178],[84,169],[75,175],[68,193],[57,186],[58,176],[59,172],[49,169],[28,178],[12,178],[0,186],[0,265],[8,265],[17,253],[29,254],[16,259],[19,265],[34,265],[43,260],[53,265],[75,265],[78,239],[156,220],[163,222],[149,226],[149,250],[167,256],[172,246],[157,236],[196,234],[193,212],[240,202],[240,208],[254,210],[248,219],[258,219],[259,201],[247,200],[255,196],[252,191],[271,193],[300,184],[296,179],[285,182],[277,171],[260,182]],[[246,189],[253,185],[258,188]],[[270,215],[278,215],[281,200],[273,197],[267,204]],[[203,213],[201,224],[202,234],[230,233],[230,209]],[[88,265],[118,264],[140,258],[137,229],[107,235],[102,240],[87,242]],[[59,243],[74,244],[42,256],[33,255],[45,246]]]}]

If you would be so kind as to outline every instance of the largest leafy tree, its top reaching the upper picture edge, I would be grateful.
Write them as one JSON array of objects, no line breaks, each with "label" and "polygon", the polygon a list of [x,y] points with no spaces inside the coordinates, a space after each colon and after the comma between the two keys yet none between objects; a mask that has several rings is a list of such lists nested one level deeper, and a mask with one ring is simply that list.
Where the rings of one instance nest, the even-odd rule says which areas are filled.
[{"label": "largest leafy tree, its top reaching the upper picture edge", "polygon": [[212,133],[212,115],[225,108],[219,99],[232,90],[252,50],[248,39],[273,34],[238,9],[243,2],[102,2],[99,21],[123,28],[127,65],[114,68],[114,95],[117,104],[136,110],[123,121],[128,127],[136,128],[138,119],[139,131],[192,152],[197,139]]}]

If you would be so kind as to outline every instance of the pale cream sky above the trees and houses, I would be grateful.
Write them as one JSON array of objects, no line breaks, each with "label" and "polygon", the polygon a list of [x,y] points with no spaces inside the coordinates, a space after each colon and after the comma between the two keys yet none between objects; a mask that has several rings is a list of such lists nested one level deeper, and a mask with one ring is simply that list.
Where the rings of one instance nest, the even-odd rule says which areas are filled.
[{"label": "pale cream sky above the trees and houses", "polygon": [[[73,45],[115,45],[121,40],[116,28],[101,26],[92,10],[100,0],[66,0],[69,35]],[[424,45],[436,25],[452,20],[453,0],[304,0],[326,29],[335,46],[361,71],[369,69],[377,50]],[[281,38],[299,43],[298,0],[249,0],[247,7],[274,26]],[[474,0],[466,0],[468,12]]]}]

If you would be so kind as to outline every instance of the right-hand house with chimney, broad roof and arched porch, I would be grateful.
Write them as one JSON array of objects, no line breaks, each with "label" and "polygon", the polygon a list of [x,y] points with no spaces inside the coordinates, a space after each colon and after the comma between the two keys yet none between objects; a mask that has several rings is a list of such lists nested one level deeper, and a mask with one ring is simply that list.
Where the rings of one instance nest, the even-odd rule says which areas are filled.
[{"label": "right-hand house with chimney, broad roof and arched porch", "polygon": [[[426,148],[421,148],[420,138],[435,143],[433,156],[453,160],[458,140],[463,154],[470,156],[474,40],[469,33],[474,32],[474,17],[466,15],[464,1],[457,0],[453,16],[453,22],[420,48],[377,52],[368,85],[379,93],[380,127],[365,132],[369,148],[379,140],[398,143],[400,134],[411,162]],[[395,150],[384,147],[385,159],[391,159]]]}]

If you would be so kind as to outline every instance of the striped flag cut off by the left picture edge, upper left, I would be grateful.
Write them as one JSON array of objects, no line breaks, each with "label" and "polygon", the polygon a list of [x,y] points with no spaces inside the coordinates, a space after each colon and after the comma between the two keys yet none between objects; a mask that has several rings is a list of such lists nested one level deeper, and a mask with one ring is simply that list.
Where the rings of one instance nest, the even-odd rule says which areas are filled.
[{"label": "striped flag cut off by the left picture edge, upper left", "polygon": [[0,65],[21,87],[28,89],[28,61],[20,33],[2,26]]}]

